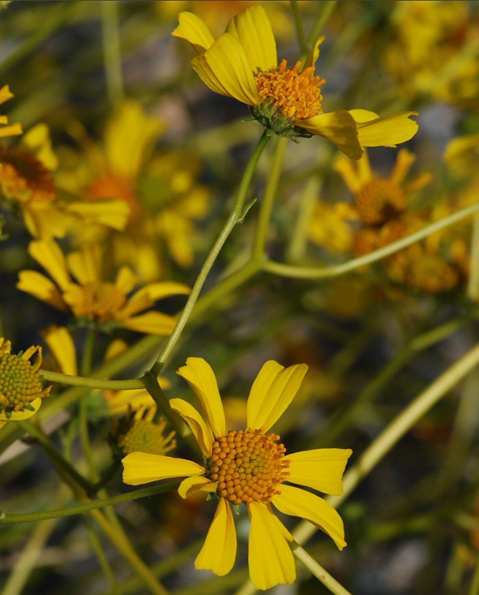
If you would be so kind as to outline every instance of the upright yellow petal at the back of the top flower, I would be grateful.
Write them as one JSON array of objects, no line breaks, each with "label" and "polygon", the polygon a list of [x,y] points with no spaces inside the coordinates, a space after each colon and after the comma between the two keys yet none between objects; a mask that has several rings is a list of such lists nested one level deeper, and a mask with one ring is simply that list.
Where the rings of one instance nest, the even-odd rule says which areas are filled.
[{"label": "upright yellow petal at the back of the top flower", "polygon": [[229,23],[227,32],[244,47],[253,73],[265,72],[278,65],[271,23],[261,5],[248,6],[237,14]]}]

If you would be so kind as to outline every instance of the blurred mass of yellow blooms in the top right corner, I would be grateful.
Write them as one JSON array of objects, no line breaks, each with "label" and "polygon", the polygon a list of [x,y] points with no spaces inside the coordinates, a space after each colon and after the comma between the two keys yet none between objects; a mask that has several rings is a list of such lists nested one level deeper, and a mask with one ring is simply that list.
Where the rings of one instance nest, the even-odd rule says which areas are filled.
[{"label": "blurred mass of yellow blooms in the top right corner", "polygon": [[460,0],[394,3],[394,36],[384,57],[404,93],[478,105],[479,20],[470,6]]}]

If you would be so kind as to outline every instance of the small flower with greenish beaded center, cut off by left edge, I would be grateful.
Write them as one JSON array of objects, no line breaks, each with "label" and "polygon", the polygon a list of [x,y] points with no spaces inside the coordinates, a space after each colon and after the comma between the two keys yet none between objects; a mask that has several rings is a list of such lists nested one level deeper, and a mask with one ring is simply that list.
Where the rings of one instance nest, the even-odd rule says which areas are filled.
[{"label": "small flower with greenish beaded center, cut off by left edge", "polygon": [[[36,360],[31,361],[36,354]],[[0,337],[0,428],[7,421],[28,419],[35,415],[51,386],[42,387],[38,370],[42,348],[29,347],[23,353],[12,353],[12,344]]]}]

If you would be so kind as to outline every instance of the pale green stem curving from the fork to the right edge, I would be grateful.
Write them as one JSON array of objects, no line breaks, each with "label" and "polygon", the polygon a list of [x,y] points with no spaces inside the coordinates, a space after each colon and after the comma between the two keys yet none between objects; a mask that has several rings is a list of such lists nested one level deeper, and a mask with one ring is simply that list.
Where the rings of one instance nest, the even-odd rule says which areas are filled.
[{"label": "pale green stem curving from the fork to the right edge", "polygon": [[358,258],[353,258],[336,266],[292,266],[289,264],[268,261],[264,264],[264,270],[271,272],[274,275],[290,277],[292,279],[327,279],[330,277],[338,277],[339,275],[344,275],[346,272],[350,272],[351,270],[355,270],[356,268],[360,268],[366,264],[371,264],[381,260],[386,256],[394,254],[395,252],[402,250],[402,248],[406,248],[407,246],[410,246],[410,244],[414,244],[414,242],[423,240],[424,237],[427,237],[435,231],[439,231],[440,229],[444,229],[449,225],[453,225],[454,223],[469,217],[469,215],[472,215],[477,211],[479,211],[479,203],[471,205],[470,207],[466,207],[465,209],[461,209],[457,213],[453,213],[452,215],[449,215],[440,221],[425,226],[416,233],[412,233],[411,235],[403,237],[398,242],[393,242],[393,244],[389,244],[384,248],[374,250],[369,254],[360,256]]}]

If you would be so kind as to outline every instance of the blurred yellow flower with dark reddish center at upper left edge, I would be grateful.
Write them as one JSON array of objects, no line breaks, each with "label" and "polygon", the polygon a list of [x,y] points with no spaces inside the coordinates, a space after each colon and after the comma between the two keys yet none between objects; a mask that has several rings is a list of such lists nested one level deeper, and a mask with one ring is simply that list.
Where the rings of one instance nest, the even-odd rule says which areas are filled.
[{"label": "blurred yellow flower with dark reddish center at upper left edge", "polygon": [[34,237],[63,237],[79,221],[123,229],[128,209],[119,200],[97,205],[59,199],[54,183],[58,159],[46,124],[29,130],[16,147],[0,146],[0,198],[19,209]]}]

